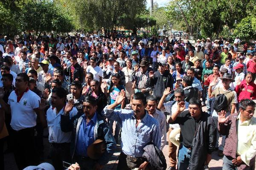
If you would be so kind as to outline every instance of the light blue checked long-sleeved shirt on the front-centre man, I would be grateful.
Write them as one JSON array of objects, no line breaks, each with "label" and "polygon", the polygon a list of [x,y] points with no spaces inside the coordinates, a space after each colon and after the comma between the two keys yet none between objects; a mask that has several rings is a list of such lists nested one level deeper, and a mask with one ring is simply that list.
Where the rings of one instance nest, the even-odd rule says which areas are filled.
[{"label": "light blue checked long-sleeved shirt on the front-centre man", "polygon": [[110,119],[119,122],[122,127],[122,152],[125,155],[141,157],[144,153],[143,148],[153,142],[159,149],[161,147],[161,130],[156,119],[145,114],[141,122],[136,127],[136,119],[132,110],[113,110],[104,108],[104,115]]}]

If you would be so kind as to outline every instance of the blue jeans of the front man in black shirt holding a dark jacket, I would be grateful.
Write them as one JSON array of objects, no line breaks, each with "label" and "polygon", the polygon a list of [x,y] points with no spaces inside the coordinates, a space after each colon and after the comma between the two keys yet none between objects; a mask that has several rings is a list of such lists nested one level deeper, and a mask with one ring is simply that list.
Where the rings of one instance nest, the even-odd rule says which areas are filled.
[{"label": "blue jeans of the front man in black shirt holding a dark jacket", "polygon": [[180,144],[178,152],[178,170],[186,170],[189,167],[191,150]]}]

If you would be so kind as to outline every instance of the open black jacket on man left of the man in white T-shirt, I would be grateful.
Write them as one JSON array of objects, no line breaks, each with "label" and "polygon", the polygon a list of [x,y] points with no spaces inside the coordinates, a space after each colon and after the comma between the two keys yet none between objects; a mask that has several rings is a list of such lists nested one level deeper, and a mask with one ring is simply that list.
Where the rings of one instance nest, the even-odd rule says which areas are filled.
[{"label": "open black jacket on man left of the man in white T-shirt", "polygon": [[83,82],[84,69],[78,63],[76,63],[74,66],[75,70],[74,70],[73,77],[72,77],[71,66],[72,65],[70,65],[68,68],[64,69],[65,75],[70,78],[70,83],[75,81],[76,79],[79,79],[79,82]]}]

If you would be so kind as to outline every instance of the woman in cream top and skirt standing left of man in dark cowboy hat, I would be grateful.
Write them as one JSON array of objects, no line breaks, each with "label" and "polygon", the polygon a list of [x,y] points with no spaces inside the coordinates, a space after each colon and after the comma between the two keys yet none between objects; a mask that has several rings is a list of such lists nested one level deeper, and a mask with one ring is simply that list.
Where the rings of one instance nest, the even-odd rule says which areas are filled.
[{"label": "woman in cream top and skirt standing left of man in dark cowboy hat", "polygon": [[131,100],[131,95],[134,94],[134,89],[132,88],[133,82],[132,77],[135,74],[133,68],[131,67],[131,59],[126,60],[127,67],[123,68],[122,71],[125,73],[125,95],[128,100]]}]

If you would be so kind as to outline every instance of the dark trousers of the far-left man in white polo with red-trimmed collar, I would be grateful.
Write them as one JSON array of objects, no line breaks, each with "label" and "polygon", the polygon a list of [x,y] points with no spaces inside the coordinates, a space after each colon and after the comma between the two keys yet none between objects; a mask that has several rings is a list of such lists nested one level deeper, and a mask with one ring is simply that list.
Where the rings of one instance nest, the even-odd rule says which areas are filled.
[{"label": "dark trousers of the far-left man in white polo with red-trimmed collar", "polygon": [[38,153],[35,147],[35,127],[22,130],[12,129],[13,153],[19,170],[30,165],[38,165]]}]

